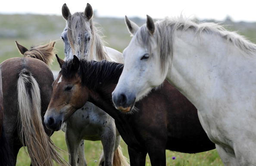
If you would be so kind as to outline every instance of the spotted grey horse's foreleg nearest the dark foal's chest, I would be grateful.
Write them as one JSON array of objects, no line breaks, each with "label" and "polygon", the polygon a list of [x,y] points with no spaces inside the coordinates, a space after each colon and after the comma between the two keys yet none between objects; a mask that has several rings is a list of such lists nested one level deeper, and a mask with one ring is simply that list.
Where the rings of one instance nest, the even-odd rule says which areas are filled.
[{"label": "spotted grey horse's foreleg nearest the dark foal's chest", "polygon": [[[104,132],[100,138],[101,138],[101,143],[103,145],[104,166],[112,166],[115,142],[116,142],[116,127],[115,127],[115,125],[105,127]],[[100,163],[100,164],[102,164],[102,163]]]}]

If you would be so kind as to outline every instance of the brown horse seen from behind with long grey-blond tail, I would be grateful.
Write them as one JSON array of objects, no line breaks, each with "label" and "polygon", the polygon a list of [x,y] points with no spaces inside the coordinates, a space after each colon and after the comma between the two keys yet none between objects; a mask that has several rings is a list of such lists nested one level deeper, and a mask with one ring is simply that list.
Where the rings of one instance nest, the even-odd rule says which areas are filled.
[{"label": "brown horse seen from behind with long grey-blond tail", "polygon": [[[53,43],[50,45],[49,49],[54,46]],[[20,46],[19,50],[22,48]],[[16,164],[22,146],[27,146],[34,166],[53,166],[53,160],[59,165],[66,165],[50,140],[52,131],[42,123],[54,79],[46,63],[36,58],[39,54],[45,62],[52,59],[52,56],[45,57],[44,51],[37,48],[35,58],[10,58],[0,64],[4,98],[3,129],[9,148],[10,166]]]}]

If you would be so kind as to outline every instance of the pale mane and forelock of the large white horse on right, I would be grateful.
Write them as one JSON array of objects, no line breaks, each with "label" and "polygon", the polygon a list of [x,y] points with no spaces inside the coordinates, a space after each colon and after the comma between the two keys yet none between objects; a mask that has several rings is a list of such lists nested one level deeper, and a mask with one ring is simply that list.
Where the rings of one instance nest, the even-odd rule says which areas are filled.
[{"label": "pale mane and forelock of the large white horse on right", "polygon": [[[157,43],[160,48],[161,65],[162,69],[165,67],[165,62],[173,55],[173,40],[174,34],[177,30],[188,31],[193,30],[196,34],[202,35],[203,33],[216,34],[223,37],[225,40],[230,41],[234,46],[247,54],[256,53],[256,45],[251,43],[245,37],[237,34],[236,32],[227,31],[222,25],[213,22],[204,22],[197,24],[190,19],[180,17],[169,18],[155,22],[154,35],[157,37]],[[147,48],[150,48],[150,33],[147,26],[143,25],[136,35],[140,43]]]}]

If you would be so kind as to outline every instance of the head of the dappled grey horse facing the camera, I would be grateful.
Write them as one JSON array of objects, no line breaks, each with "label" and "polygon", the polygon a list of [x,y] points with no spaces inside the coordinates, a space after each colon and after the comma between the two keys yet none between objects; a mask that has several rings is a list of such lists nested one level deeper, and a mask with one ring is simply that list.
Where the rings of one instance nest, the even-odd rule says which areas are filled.
[{"label": "head of the dappled grey horse facing the camera", "polygon": [[66,60],[72,59],[73,55],[78,58],[86,58],[91,47],[93,38],[92,16],[93,9],[89,3],[84,12],[70,13],[66,3],[62,6],[62,16],[66,19],[66,27],[61,38],[64,42]]}]

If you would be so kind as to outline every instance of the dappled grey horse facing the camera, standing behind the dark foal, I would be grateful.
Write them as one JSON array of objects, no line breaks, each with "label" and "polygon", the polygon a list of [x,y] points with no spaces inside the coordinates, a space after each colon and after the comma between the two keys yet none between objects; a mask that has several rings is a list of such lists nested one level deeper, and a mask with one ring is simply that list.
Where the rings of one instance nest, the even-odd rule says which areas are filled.
[{"label": "dappled grey horse facing the camera, standing behind the dark foal", "polygon": [[[89,3],[84,12],[75,12],[73,15],[66,3],[62,6],[62,16],[67,21],[66,28],[62,32],[66,60],[77,55],[81,59],[96,61],[106,59],[122,63],[121,52],[103,46],[100,35],[97,34],[97,29],[94,27],[92,15],[93,10]],[[61,81],[61,78],[57,79]],[[116,130],[115,121],[92,103],[87,102],[83,108],[76,111],[66,121],[62,130],[66,131],[69,163],[72,166],[77,163],[79,166],[86,165],[84,139],[101,140],[104,153],[100,157],[100,165],[128,165],[119,147],[121,136]]]}]

